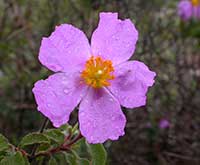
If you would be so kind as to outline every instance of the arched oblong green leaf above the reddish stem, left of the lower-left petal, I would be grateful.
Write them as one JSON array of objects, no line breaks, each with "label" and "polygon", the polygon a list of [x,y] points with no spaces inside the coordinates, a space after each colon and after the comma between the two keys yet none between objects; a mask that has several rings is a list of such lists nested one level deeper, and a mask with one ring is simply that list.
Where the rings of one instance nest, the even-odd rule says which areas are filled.
[{"label": "arched oblong green leaf above the reddish stem, left of the lower-left petal", "polygon": [[19,146],[24,147],[33,144],[50,144],[50,140],[46,135],[41,133],[31,133],[26,135],[20,142]]}]

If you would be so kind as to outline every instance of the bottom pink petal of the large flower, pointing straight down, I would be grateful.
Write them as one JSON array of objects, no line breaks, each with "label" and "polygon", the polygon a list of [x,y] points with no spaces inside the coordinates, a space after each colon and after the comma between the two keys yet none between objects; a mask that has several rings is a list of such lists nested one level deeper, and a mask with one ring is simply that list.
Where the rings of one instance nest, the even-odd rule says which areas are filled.
[{"label": "bottom pink petal of the large flower, pointing straight down", "polygon": [[90,88],[80,104],[79,122],[89,143],[103,143],[124,135],[126,118],[119,102],[106,89]]}]

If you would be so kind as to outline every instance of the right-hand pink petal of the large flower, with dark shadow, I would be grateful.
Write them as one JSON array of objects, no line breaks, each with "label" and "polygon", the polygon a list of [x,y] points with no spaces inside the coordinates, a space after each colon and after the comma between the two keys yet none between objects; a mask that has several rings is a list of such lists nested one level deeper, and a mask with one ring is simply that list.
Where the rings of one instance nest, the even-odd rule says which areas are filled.
[{"label": "right-hand pink petal of the large flower, with dark shadow", "polygon": [[122,106],[135,108],[146,104],[146,93],[154,83],[155,72],[142,62],[128,61],[116,67],[114,75],[108,88]]}]

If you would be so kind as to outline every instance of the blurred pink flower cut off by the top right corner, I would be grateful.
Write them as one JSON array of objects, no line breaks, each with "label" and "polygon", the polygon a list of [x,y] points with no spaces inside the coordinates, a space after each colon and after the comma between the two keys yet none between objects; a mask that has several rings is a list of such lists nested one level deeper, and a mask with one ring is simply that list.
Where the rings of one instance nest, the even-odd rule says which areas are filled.
[{"label": "blurred pink flower cut off by the top right corner", "polygon": [[184,21],[200,19],[200,0],[181,0],[178,4],[178,15]]}]

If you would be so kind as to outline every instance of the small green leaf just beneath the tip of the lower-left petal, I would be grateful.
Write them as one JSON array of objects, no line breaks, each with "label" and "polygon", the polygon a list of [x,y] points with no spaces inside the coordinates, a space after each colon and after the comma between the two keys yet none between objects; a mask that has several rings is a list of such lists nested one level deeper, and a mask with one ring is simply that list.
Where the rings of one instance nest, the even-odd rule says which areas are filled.
[{"label": "small green leaf just beneath the tip of the lower-left petal", "polygon": [[58,144],[64,142],[65,135],[59,129],[49,129],[45,132],[45,135]]}]

